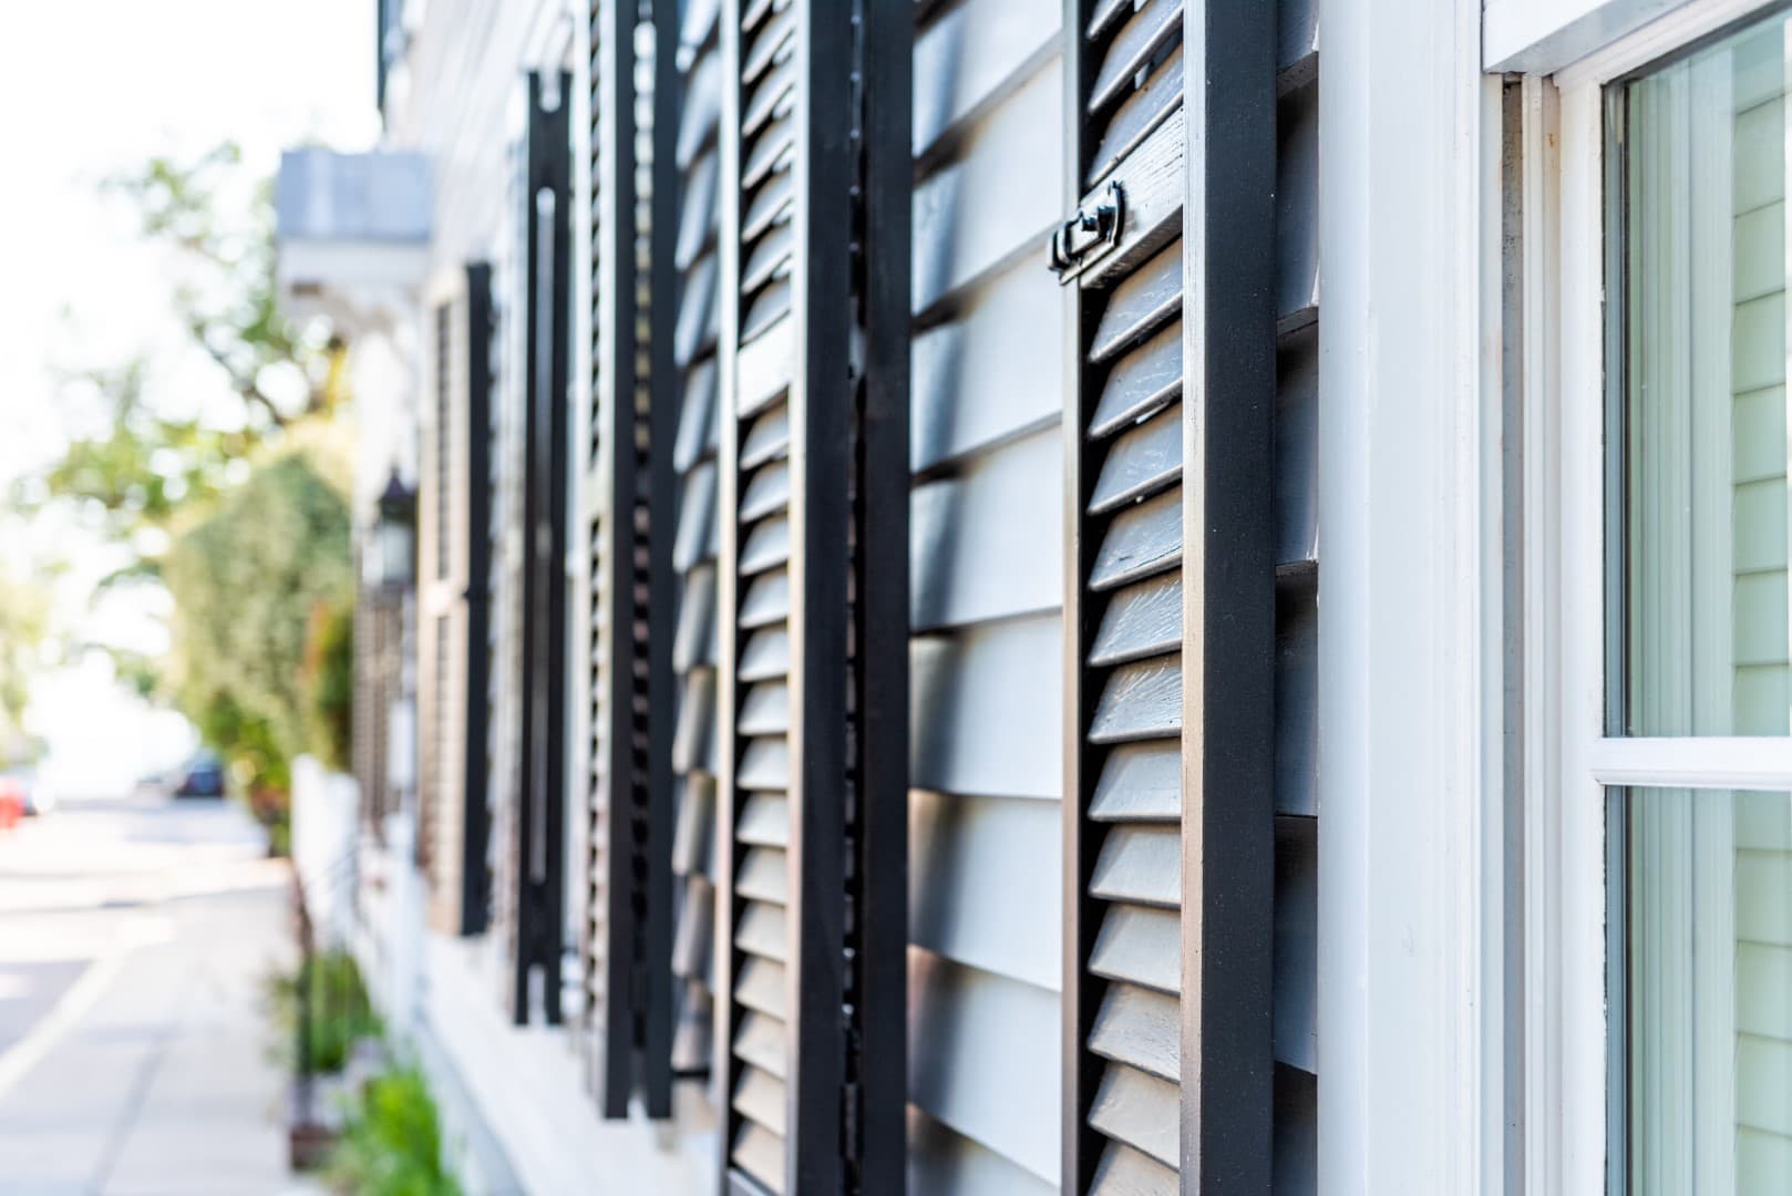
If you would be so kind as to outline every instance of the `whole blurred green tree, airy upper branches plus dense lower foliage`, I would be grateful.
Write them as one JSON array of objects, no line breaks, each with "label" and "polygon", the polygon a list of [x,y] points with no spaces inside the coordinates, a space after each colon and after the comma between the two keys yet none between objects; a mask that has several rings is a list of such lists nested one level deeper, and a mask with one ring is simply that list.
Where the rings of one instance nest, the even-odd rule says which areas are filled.
[{"label": "whole blurred green tree, airy upper branches plus dense lower foliage", "polygon": [[323,733],[348,724],[346,694],[319,719],[305,692],[340,689],[339,671],[305,667],[308,638],[353,595],[346,346],[281,310],[272,186],[235,145],[152,158],[106,188],[170,251],[172,310],[220,386],[170,396],[151,360],[68,375],[95,418],[14,506],[82,513],[125,556],[106,585],[167,586],[170,658],[113,651],[118,672],[195,723],[278,839],[292,757],[333,758]]}]

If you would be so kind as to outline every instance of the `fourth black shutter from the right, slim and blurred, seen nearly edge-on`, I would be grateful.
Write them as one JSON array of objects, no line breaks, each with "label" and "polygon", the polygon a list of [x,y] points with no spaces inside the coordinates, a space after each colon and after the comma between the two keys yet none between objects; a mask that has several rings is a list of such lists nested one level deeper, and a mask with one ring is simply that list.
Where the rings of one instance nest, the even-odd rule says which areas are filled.
[{"label": "fourth black shutter from the right, slim and blurred, seen nearly edge-on", "polygon": [[[570,342],[570,124],[572,77],[561,72],[548,93],[539,74],[527,77],[529,131],[523,152],[516,276],[523,360],[511,377],[520,405],[521,466],[509,493],[520,497],[521,545],[518,608],[520,649],[516,802],[511,816],[514,950],[511,1017],[530,1018],[532,992],[541,1013],[561,1020],[561,938],[564,920],[566,828],[566,477]],[[534,990],[532,977],[539,977]]]}]

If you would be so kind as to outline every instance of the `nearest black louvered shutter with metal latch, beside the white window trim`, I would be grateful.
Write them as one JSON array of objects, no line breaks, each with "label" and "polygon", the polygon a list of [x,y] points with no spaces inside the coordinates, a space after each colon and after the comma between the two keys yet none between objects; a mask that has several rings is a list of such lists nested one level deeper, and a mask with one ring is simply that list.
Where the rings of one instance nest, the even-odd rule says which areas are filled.
[{"label": "nearest black louvered shutter with metal latch, beside the white window trim", "polygon": [[1271,1189],[1276,22],[1066,9],[1079,1192]]}]

